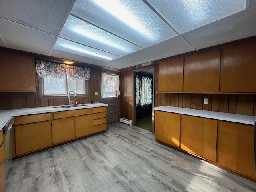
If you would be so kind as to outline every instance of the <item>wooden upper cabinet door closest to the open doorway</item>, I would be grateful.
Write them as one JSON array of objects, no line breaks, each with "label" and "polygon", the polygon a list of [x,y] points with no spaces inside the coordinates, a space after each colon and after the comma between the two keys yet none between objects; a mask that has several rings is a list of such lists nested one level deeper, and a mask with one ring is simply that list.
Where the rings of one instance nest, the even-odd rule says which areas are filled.
[{"label": "wooden upper cabinet door closest to the open doorway", "polygon": [[159,92],[182,92],[183,60],[182,57],[159,62]]}]

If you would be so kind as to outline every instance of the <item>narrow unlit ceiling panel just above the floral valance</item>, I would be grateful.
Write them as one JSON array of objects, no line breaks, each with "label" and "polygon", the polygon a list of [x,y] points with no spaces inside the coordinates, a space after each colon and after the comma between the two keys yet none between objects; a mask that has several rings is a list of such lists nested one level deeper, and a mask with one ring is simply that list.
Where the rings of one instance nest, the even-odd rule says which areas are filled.
[{"label": "narrow unlit ceiling panel just above the floral valance", "polygon": [[81,55],[72,54],[70,52],[64,52],[60,50],[53,49],[50,56],[57,57],[57,58],[68,58],[68,60],[88,63],[88,64],[94,64],[94,65],[102,65],[105,63],[105,61],[97,60],[89,57],[84,57]]}]

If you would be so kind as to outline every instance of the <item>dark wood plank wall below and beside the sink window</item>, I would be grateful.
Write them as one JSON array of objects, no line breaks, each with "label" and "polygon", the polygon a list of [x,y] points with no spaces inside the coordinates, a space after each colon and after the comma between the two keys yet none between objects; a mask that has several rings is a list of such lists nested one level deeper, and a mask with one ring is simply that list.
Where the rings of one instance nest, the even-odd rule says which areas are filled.
[{"label": "dark wood plank wall below and beside the sink window", "polygon": [[[100,70],[91,68],[91,76],[88,80],[89,96],[76,97],[72,99],[74,102],[88,103],[91,100],[100,102],[100,95],[94,95],[94,92],[100,93]],[[20,109],[31,107],[44,107],[68,104],[68,98],[40,99],[39,87],[36,86],[36,92],[0,92],[0,110]]]}]

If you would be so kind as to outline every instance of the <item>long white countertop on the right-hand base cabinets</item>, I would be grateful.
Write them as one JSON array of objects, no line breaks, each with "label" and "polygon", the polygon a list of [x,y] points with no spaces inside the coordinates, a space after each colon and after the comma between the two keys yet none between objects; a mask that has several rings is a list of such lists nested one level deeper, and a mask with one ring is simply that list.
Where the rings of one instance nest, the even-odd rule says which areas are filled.
[{"label": "long white countertop on the right-hand base cabinets", "polygon": [[216,119],[216,120],[223,120],[223,121],[229,121],[229,122],[243,123],[243,124],[249,124],[249,125],[254,125],[254,120],[256,119],[255,116],[249,116],[249,115],[239,115],[239,114],[196,110],[196,109],[188,109],[188,108],[181,108],[181,107],[170,107],[170,106],[154,107],[154,110],[191,115],[196,117],[204,117],[204,118],[210,118],[210,119]]}]

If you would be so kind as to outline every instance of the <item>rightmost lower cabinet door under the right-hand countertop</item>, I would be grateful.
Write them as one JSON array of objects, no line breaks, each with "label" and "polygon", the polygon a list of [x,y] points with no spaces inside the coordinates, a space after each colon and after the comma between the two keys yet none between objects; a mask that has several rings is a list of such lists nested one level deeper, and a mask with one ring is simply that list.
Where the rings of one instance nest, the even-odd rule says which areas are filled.
[{"label": "rightmost lower cabinet door under the right-hand countertop", "polygon": [[219,164],[256,178],[253,126],[219,121],[217,149]]}]

